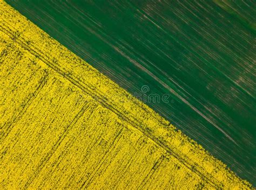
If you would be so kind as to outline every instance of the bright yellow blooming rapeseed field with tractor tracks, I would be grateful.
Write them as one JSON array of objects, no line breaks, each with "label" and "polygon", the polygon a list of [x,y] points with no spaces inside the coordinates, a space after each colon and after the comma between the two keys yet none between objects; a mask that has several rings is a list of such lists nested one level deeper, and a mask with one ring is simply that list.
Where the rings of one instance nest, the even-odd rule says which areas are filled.
[{"label": "bright yellow blooming rapeseed field with tractor tracks", "polygon": [[0,189],[250,189],[0,1]]}]

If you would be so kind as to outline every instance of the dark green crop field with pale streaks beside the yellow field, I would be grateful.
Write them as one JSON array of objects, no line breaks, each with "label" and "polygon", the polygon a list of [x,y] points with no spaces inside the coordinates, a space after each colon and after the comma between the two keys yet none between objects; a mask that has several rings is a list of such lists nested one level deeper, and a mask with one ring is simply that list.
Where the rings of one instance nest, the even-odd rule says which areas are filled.
[{"label": "dark green crop field with pale streaks beside the yellow field", "polygon": [[7,2],[255,183],[255,1]]}]

